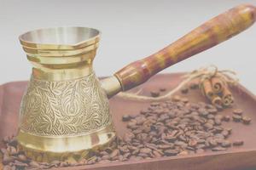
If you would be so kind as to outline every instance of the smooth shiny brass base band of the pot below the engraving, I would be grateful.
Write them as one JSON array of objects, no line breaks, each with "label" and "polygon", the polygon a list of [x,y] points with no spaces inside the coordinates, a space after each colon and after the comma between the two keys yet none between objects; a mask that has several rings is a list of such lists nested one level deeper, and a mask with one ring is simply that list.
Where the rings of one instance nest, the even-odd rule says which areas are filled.
[{"label": "smooth shiny brass base band of the pot below the engraving", "polygon": [[20,130],[17,136],[20,150],[35,161],[79,161],[90,153],[103,150],[115,139],[113,125],[94,133],[67,137],[44,137]]}]

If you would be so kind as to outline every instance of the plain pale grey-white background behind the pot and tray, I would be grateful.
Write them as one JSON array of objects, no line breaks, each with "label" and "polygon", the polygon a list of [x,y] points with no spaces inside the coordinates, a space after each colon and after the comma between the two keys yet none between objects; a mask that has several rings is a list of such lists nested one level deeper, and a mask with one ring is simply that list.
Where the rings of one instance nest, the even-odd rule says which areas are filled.
[{"label": "plain pale grey-white background behind the pot and tray", "polygon": [[[0,83],[30,77],[31,65],[18,40],[25,31],[51,26],[99,29],[102,41],[94,65],[98,76],[108,76],[240,3],[256,5],[256,0],[0,0]],[[236,71],[241,83],[256,94],[255,48],[256,26],[252,26],[163,72],[218,65]]]}]

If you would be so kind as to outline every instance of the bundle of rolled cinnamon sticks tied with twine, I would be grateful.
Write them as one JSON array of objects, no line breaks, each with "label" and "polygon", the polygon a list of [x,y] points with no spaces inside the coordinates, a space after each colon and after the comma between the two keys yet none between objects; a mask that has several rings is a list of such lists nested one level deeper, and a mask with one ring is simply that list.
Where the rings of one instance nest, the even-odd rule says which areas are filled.
[{"label": "bundle of rolled cinnamon sticks tied with twine", "polygon": [[229,85],[221,77],[208,77],[201,80],[201,91],[212,102],[212,105],[228,107],[234,103]]}]

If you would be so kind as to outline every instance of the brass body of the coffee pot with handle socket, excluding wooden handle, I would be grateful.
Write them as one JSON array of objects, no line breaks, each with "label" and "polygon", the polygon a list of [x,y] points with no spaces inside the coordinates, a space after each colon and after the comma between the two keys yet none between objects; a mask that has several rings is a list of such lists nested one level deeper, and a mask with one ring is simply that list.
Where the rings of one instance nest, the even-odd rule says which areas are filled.
[{"label": "brass body of the coffee pot with handle socket, excluding wooden handle", "polygon": [[33,68],[17,139],[32,159],[86,157],[114,139],[108,97],[121,86],[116,77],[101,85],[93,71],[99,35],[92,28],[59,27],[20,36]]}]

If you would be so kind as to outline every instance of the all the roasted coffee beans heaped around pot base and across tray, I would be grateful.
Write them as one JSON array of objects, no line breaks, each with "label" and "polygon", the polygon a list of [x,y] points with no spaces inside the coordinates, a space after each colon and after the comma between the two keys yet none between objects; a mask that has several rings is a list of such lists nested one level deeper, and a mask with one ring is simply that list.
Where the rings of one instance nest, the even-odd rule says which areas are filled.
[{"label": "all the roasted coffee beans heaped around pot base and across tray", "polygon": [[36,162],[28,159],[17,149],[15,137],[5,138],[3,169],[43,169],[50,167],[70,167],[152,159],[161,156],[185,156],[199,154],[206,150],[223,151],[232,145],[242,145],[242,140],[230,141],[232,128],[223,122],[243,122],[251,119],[243,116],[241,109],[233,111],[233,116],[224,116],[223,108],[203,102],[191,103],[189,99],[174,96],[172,100],[153,102],[140,114],[125,115],[122,121],[128,130],[122,139],[117,138],[107,149],[91,154],[90,159],[78,162],[53,161]]}]

